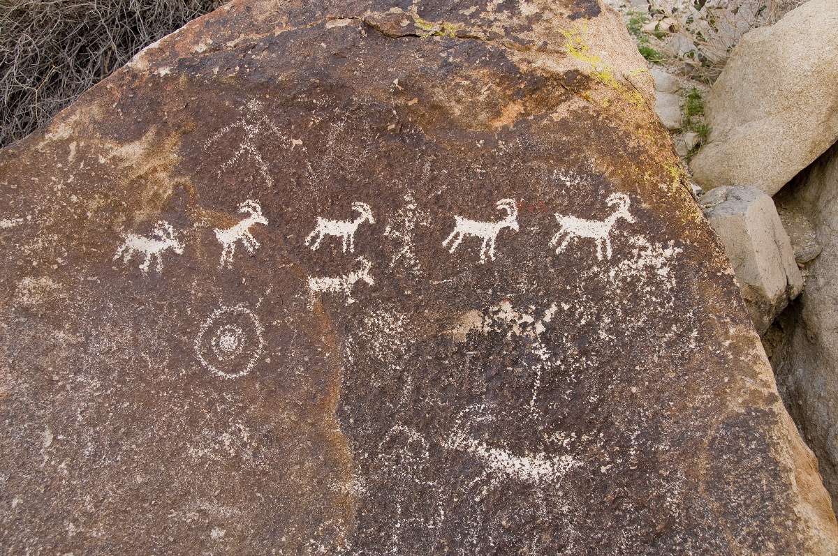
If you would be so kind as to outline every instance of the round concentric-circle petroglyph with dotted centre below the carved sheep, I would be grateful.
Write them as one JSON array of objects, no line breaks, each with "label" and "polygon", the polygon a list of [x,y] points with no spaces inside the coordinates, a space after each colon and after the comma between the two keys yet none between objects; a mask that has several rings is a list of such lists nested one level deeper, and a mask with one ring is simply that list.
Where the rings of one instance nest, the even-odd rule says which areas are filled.
[{"label": "round concentric-circle petroglyph with dotted centre below the carved sheep", "polygon": [[198,360],[222,378],[239,378],[250,373],[264,347],[259,320],[241,306],[216,310],[195,338]]}]

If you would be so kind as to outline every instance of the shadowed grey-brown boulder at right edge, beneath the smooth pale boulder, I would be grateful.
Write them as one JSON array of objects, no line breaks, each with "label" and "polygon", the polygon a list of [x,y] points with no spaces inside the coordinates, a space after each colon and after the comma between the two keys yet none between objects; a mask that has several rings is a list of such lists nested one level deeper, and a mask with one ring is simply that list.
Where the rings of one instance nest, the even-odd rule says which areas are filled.
[{"label": "shadowed grey-brown boulder at right edge, beneath the smooth pale boulder", "polygon": [[787,214],[810,220],[823,251],[806,289],[780,319],[785,332],[772,363],[780,392],[820,461],[838,501],[838,145],[777,195]]}]

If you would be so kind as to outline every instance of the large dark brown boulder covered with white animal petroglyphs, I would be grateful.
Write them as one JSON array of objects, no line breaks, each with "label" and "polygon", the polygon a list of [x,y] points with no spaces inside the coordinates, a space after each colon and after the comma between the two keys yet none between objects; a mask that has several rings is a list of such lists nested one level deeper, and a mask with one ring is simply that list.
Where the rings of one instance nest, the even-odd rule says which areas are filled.
[{"label": "large dark brown boulder covered with white animal petroglyphs", "polygon": [[10,553],[827,554],[623,23],[247,0],[0,154]]}]

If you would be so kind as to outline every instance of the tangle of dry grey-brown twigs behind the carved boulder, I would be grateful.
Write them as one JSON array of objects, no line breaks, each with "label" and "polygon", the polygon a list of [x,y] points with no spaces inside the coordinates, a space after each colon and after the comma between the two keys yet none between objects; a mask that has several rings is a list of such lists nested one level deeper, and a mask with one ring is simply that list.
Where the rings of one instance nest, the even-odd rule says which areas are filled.
[{"label": "tangle of dry grey-brown twigs behind the carved boulder", "polygon": [[0,147],[222,0],[0,0]]}]

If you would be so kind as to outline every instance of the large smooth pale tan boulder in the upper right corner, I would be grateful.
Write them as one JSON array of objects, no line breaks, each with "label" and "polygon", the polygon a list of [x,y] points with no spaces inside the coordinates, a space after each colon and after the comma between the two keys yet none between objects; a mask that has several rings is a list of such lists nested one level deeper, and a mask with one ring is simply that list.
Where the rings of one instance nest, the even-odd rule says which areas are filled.
[{"label": "large smooth pale tan boulder in the upper right corner", "polygon": [[747,33],[705,114],[710,142],[690,162],[696,182],[777,193],[838,140],[838,3],[810,0]]}]

